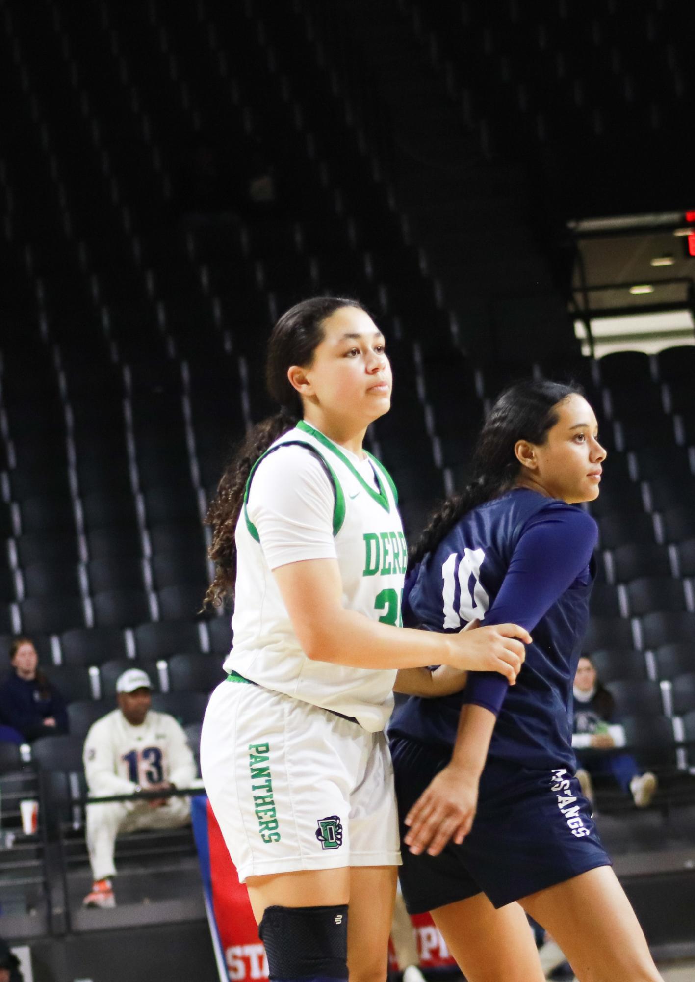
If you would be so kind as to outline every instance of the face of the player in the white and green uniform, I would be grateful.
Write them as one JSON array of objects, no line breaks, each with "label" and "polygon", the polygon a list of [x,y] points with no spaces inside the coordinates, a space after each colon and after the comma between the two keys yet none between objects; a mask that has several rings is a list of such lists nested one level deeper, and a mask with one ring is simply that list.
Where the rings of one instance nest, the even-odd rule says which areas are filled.
[{"label": "face of the player in the white and green uniform", "polygon": [[386,343],[368,313],[341,307],[324,321],[323,341],[310,365],[294,365],[291,381],[305,409],[334,423],[368,426],[391,408],[392,374]]}]

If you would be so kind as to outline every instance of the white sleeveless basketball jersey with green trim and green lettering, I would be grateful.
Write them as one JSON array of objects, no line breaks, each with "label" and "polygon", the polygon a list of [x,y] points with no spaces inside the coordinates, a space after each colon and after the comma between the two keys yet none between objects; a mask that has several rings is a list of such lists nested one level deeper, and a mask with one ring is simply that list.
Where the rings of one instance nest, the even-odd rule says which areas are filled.
[{"label": "white sleeveless basketball jersey with green trim and green lettering", "polygon": [[[376,484],[365,481],[343,450],[303,420],[269,448],[302,445],[316,455],[333,484],[333,532],[343,581],[343,606],[382,624],[401,625],[407,561],[396,487],[385,467],[370,458]],[[234,647],[225,662],[266,688],[353,716],[365,730],[382,730],[393,708],[396,672],[311,661],[302,651],[280,590],[244,508],[236,529],[237,585],[232,620]],[[292,474],[288,473],[288,480]]]}]

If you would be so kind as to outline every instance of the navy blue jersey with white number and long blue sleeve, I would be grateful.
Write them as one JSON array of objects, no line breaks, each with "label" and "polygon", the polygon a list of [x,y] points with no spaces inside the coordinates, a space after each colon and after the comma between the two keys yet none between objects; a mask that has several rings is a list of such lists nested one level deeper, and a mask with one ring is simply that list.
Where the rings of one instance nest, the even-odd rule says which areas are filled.
[{"label": "navy blue jersey with white number and long blue sleeve", "polygon": [[[530,768],[574,768],[572,682],[588,622],[596,522],[582,509],[516,488],[473,509],[408,577],[409,626],[458,631],[469,621],[526,627],[533,643],[516,684],[508,686],[490,757]],[[463,702],[486,705],[476,685],[495,673],[470,673],[463,692],[411,696],[390,734],[453,745]]]}]

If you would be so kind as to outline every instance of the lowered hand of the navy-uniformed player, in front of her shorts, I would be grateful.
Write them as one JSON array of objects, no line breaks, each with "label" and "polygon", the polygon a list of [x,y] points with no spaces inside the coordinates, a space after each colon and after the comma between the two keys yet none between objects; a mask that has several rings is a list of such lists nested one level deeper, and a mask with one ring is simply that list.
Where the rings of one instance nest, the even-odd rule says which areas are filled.
[{"label": "lowered hand of the navy-uniformed player, in front of her shorts", "polygon": [[449,764],[431,781],[405,816],[405,845],[413,855],[438,856],[452,840],[457,846],[470,832],[478,804],[478,780]]}]

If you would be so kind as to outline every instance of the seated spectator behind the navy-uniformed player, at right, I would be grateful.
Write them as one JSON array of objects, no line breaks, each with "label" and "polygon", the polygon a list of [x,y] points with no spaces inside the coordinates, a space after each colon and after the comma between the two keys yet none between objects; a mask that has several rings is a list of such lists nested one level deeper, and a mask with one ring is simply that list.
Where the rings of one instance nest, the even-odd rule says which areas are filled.
[{"label": "seated spectator behind the navy-uniformed player, at right", "polygon": [[579,659],[574,677],[574,724],[572,746],[576,750],[577,778],[589,801],[594,800],[592,775],[608,774],[626,794],[631,794],[638,808],[646,808],[654,797],[658,781],[651,771],[640,774],[637,761],[629,753],[605,756],[582,753],[586,750],[609,750],[625,745],[625,732],[615,722],[615,701],[599,681],[588,655]]}]

